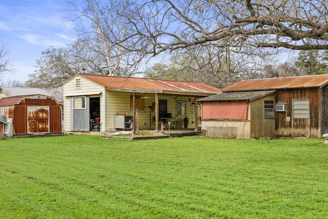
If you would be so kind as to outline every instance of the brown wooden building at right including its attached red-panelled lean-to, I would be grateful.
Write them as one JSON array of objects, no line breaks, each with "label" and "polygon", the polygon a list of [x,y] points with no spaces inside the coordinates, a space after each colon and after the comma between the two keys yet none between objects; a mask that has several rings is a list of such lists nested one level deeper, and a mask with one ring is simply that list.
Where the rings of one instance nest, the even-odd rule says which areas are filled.
[{"label": "brown wooden building at right including its attached red-panelled lean-to", "polygon": [[[259,96],[254,99],[252,92]],[[328,74],[240,81],[224,88],[222,95],[199,100],[202,131],[213,137],[218,134],[207,129],[214,129],[213,132],[222,127],[234,129],[237,138],[321,137],[328,132],[327,95]],[[247,109],[240,102],[247,104]],[[221,112],[221,109],[233,113],[215,117],[213,111]],[[247,116],[235,117],[245,110]]]}]

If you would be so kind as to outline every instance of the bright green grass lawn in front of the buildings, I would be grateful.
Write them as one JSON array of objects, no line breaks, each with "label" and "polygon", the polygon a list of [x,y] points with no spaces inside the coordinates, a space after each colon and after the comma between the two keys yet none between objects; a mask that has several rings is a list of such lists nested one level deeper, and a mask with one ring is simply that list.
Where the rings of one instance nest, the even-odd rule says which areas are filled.
[{"label": "bright green grass lawn in front of the buildings", "polygon": [[322,139],[0,140],[2,218],[327,218]]}]

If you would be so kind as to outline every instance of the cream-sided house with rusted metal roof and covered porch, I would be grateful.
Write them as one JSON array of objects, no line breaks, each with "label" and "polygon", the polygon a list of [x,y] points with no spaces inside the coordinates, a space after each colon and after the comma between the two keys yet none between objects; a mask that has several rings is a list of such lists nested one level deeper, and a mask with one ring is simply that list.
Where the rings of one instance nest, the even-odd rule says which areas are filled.
[{"label": "cream-sided house with rusted metal roof and covered porch", "polygon": [[219,92],[197,82],[76,74],[64,83],[64,131],[184,128],[186,117],[197,129],[195,99]]}]

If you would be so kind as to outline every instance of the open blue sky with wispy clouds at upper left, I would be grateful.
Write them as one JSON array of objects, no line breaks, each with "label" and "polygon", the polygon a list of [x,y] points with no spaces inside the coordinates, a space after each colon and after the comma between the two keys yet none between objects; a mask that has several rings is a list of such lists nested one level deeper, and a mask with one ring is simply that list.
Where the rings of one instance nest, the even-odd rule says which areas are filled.
[{"label": "open blue sky with wispy clouds at upper left", "polygon": [[74,41],[73,24],[61,12],[65,6],[66,0],[0,0],[0,36],[16,69],[2,82],[27,81],[42,51]]}]

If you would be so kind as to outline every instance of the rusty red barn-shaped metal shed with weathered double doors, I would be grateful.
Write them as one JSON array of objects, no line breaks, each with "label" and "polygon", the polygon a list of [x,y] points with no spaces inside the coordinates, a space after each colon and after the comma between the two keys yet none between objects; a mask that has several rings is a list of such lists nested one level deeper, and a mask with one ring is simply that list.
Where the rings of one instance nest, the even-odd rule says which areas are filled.
[{"label": "rusty red barn-shaped metal shed with weathered double doors", "polygon": [[61,133],[61,105],[51,96],[1,98],[0,114],[12,118],[13,136]]}]

